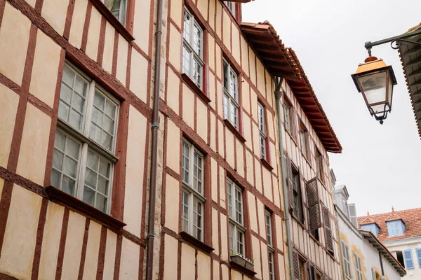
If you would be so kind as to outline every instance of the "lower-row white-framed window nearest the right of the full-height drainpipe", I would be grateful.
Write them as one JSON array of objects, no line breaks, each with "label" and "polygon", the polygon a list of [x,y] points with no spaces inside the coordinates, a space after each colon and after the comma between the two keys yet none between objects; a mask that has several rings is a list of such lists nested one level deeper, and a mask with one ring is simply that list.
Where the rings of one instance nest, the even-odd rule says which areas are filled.
[{"label": "lower-row white-framed window nearest the right of the full-height drainpipe", "polygon": [[[198,151],[194,147],[194,145],[186,139],[183,139],[182,144],[182,230],[187,232],[189,235],[192,235],[196,239],[203,241],[204,204],[206,202],[206,198],[203,196],[205,157],[203,153]],[[185,147],[189,148],[189,151],[187,153],[185,153]],[[195,156],[201,159],[201,166],[196,165],[196,163],[194,162]],[[186,162],[188,162],[187,168],[185,164]],[[200,178],[195,176],[195,168],[197,168],[198,173],[199,169],[201,169],[201,174],[199,176]],[[185,176],[186,172],[187,178]],[[194,186],[194,182],[197,183],[197,186]],[[200,188],[199,182],[201,183]],[[185,201],[185,195],[187,195],[187,201]],[[195,203],[196,209],[194,209]],[[185,214],[187,214],[187,217],[185,217]],[[199,220],[199,216],[199,224],[194,225],[194,221]],[[198,230],[200,230],[199,234],[197,233]]]}]

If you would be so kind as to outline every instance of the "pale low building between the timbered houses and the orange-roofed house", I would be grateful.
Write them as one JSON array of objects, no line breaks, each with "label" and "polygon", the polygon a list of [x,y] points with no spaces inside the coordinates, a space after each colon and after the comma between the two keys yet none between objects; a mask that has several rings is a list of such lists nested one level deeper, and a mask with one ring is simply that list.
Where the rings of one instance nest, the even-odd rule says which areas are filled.
[{"label": "pale low building between the timbered houses and the orange-roofed house", "polygon": [[403,265],[373,232],[357,228],[355,216],[350,214],[356,213],[355,205],[348,204],[348,197],[345,185],[336,187],[335,211],[342,279],[401,279],[406,275]]}]

